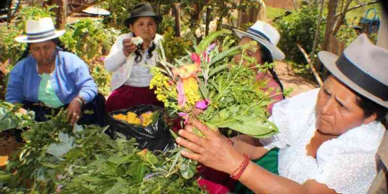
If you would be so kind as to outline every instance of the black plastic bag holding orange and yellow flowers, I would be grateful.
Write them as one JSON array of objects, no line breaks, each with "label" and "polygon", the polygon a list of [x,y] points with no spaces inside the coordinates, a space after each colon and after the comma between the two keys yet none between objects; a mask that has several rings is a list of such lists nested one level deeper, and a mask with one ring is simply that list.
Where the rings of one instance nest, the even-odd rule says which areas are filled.
[{"label": "black plastic bag holding orange and yellow flowers", "polygon": [[[129,124],[126,121],[113,118],[113,115],[115,114],[127,114],[128,112],[132,112],[140,115],[148,111],[153,113],[155,111],[160,111],[161,113],[151,124],[146,127]],[[113,111],[107,116],[107,125],[110,127],[106,130],[106,133],[112,139],[118,138],[116,132],[119,132],[125,135],[127,139],[132,137],[135,138],[139,144],[139,148],[141,149],[147,148],[150,151],[159,150],[164,153],[165,151],[176,147],[169,127],[164,122],[163,109],[155,105],[143,104],[129,109]],[[157,153],[158,152],[155,152],[155,154]]]}]

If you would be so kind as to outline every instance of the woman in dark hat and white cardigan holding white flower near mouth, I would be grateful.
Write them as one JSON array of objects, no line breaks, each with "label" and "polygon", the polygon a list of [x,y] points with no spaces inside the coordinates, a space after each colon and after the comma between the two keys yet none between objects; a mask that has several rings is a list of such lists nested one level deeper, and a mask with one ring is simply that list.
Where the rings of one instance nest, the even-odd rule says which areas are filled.
[{"label": "woman in dark hat and white cardigan holding white flower near mouth", "polygon": [[120,35],[113,44],[104,64],[113,73],[112,94],[106,101],[107,112],[127,109],[140,104],[162,106],[154,90],[149,89],[152,74],[149,67],[159,59],[157,47],[162,39],[156,33],[162,16],[157,16],[147,3],[133,7],[124,22],[131,32]]}]

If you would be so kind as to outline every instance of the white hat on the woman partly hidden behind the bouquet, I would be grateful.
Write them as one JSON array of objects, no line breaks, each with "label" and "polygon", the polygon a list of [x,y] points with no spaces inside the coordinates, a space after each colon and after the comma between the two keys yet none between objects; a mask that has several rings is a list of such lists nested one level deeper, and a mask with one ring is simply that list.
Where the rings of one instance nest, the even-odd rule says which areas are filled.
[{"label": "white hat on the woman partly hidden behind the bouquet", "polygon": [[283,60],[286,57],[284,53],[276,47],[280,39],[279,32],[268,23],[258,20],[254,25],[249,27],[247,32],[237,29],[233,29],[233,31],[240,39],[244,36],[248,36],[258,41],[261,45],[270,50],[274,60]]}]

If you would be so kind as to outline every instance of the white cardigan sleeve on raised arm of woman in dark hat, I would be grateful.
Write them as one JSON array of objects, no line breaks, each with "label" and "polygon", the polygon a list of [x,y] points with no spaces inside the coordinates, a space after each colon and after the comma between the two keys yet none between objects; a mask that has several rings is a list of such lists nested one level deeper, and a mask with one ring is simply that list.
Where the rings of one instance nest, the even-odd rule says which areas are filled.
[{"label": "white cardigan sleeve on raised arm of woman in dark hat", "polygon": [[121,34],[114,42],[108,56],[104,60],[105,69],[113,72],[123,65],[127,59],[123,52],[123,40],[131,38],[131,33]]}]

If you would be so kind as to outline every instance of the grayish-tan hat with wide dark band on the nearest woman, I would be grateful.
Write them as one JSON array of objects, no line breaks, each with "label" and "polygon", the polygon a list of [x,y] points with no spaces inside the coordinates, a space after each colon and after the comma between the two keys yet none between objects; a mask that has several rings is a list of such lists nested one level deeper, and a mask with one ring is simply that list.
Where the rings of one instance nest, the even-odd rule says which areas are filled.
[{"label": "grayish-tan hat with wide dark band on the nearest woman", "polygon": [[375,46],[368,36],[359,35],[337,56],[320,51],[323,65],[358,94],[388,108],[388,50]]}]

